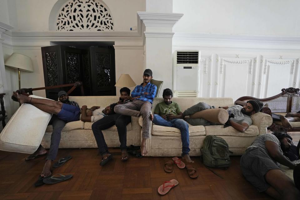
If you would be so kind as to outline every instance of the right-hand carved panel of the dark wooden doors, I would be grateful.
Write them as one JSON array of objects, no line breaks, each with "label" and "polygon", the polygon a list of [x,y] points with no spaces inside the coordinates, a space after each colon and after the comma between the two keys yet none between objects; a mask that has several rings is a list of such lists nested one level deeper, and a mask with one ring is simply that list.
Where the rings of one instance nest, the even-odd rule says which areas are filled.
[{"label": "right-hand carved panel of the dark wooden doors", "polygon": [[116,95],[114,49],[90,47],[91,88],[94,96]]}]

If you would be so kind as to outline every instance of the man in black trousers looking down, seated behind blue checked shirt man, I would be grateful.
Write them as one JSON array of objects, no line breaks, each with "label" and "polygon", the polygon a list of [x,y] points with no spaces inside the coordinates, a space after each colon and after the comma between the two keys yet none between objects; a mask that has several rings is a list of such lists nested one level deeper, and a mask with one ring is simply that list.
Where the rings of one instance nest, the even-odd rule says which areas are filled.
[{"label": "man in black trousers looking down, seated behind blue checked shirt man", "polygon": [[[124,100],[125,97],[130,96],[130,89],[129,88],[121,88],[120,89],[121,99]],[[120,148],[121,148],[121,160],[125,161],[128,159],[128,153],[127,153],[127,124],[131,122],[131,116],[128,115],[121,115],[118,113],[114,113],[114,107],[117,104],[122,104],[122,101],[119,101],[118,103],[113,103],[110,106],[106,107],[102,113],[104,113],[105,116],[101,115],[99,116],[97,122],[93,123],[92,130],[94,133],[94,137],[96,139],[99,151],[102,155],[102,160],[100,165],[105,165],[110,159],[113,158],[113,155],[109,153],[107,144],[105,142],[102,130],[108,129],[112,127],[113,125],[116,125],[119,135],[119,141],[120,141]],[[93,108],[93,107],[92,107]],[[82,113],[84,113],[84,108],[82,110]],[[93,116],[96,118],[96,116]],[[81,117],[82,118],[82,117]],[[91,117],[90,117],[91,118]],[[82,119],[81,119],[82,120]],[[91,122],[94,122],[91,120]]]}]

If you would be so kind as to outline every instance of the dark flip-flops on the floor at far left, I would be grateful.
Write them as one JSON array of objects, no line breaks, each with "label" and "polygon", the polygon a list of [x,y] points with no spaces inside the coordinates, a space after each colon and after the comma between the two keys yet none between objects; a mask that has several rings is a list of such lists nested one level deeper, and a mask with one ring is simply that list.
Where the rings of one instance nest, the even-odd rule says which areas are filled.
[{"label": "dark flip-flops on the floor at far left", "polygon": [[[41,157],[41,156],[40,156]],[[35,157],[37,158],[37,156]],[[53,168],[58,168],[61,167],[63,164],[65,164],[68,160],[70,160],[72,158],[72,156],[66,156],[64,158],[60,158],[58,160],[58,162],[53,164]],[[34,158],[33,158],[34,159]],[[32,160],[32,159],[29,159]],[[51,171],[52,173],[52,171]],[[63,175],[63,174],[54,174],[51,177],[42,177],[41,175],[38,177],[37,182],[34,183],[34,186],[38,187],[41,186],[43,184],[55,184],[55,183],[60,183],[66,180],[69,180],[70,178],[72,178],[73,175],[69,174],[69,175]]]}]

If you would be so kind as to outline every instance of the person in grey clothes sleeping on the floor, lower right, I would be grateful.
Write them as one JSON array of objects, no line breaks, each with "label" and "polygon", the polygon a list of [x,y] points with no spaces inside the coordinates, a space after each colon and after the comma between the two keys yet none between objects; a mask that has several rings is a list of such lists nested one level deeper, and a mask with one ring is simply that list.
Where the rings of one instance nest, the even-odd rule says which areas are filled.
[{"label": "person in grey clothes sleeping on the floor, lower right", "polygon": [[[299,188],[299,166],[283,153],[291,146],[291,137],[286,133],[266,133],[259,135],[247,148],[240,166],[244,177],[258,192],[266,192],[275,199],[299,199],[300,191],[295,187]],[[294,169],[295,185],[279,168],[279,163]]]}]

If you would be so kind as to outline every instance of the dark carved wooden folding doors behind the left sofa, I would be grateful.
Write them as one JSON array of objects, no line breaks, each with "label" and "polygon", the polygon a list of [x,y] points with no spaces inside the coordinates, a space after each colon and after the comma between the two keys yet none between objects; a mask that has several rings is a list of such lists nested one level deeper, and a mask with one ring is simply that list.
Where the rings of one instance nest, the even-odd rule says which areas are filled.
[{"label": "dark carved wooden folding doors behind the left sofa", "polygon": [[[116,95],[114,49],[78,49],[62,45],[42,47],[45,87],[83,82],[86,96]],[[46,90],[46,97],[57,100],[57,93],[68,88]],[[72,96],[80,96],[77,88]]]}]

